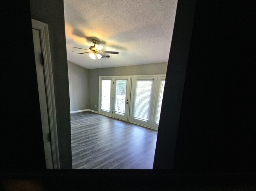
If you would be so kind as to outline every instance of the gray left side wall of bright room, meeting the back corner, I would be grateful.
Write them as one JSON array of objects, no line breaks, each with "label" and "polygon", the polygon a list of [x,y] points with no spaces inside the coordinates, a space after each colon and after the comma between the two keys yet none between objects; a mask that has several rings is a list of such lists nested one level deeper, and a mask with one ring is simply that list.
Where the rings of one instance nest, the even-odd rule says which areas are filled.
[{"label": "gray left side wall of bright room, meeting the back corner", "polygon": [[68,61],[70,111],[88,109],[88,69]]}]

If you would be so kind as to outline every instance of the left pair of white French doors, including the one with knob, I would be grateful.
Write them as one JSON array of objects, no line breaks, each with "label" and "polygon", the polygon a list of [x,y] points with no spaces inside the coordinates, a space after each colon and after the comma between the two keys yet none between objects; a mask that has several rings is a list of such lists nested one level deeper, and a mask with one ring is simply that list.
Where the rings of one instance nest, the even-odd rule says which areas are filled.
[{"label": "left pair of white French doors, including the one with knob", "polygon": [[99,113],[128,121],[131,76],[100,76]]}]

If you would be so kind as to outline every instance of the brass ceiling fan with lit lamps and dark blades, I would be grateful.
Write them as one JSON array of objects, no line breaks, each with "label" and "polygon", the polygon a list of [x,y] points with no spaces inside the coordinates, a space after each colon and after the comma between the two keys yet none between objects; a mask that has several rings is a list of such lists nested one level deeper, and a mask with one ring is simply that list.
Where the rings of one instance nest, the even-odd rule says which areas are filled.
[{"label": "brass ceiling fan with lit lamps and dark blades", "polygon": [[[74,47],[74,48],[78,48],[78,49],[83,49],[83,50],[89,51],[89,52],[85,52],[85,53],[90,53],[89,56],[93,60],[96,59],[96,56],[97,56],[98,59],[100,59],[102,56],[105,57],[101,53],[119,54],[119,52],[102,51],[101,49],[103,48],[103,46],[96,44],[97,42],[98,42],[97,40],[93,39],[94,46],[90,46],[89,49],[78,48],[78,47]],[[85,54],[85,53],[78,53],[78,55]]]}]

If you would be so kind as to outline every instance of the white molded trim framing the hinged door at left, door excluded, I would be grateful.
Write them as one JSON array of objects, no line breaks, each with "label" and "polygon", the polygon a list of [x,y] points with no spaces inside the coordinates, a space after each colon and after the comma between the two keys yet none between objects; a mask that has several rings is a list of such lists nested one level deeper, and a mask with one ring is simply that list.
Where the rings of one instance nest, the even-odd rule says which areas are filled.
[{"label": "white molded trim framing the hinged door at left, door excluded", "polygon": [[41,49],[43,52],[43,59],[45,62],[45,89],[47,96],[47,107],[49,126],[51,134],[51,146],[52,146],[52,160],[54,169],[60,169],[59,164],[59,147],[58,147],[58,133],[57,133],[57,121],[56,121],[56,108],[54,99],[54,84],[52,76],[52,60],[50,54],[50,40],[48,24],[32,19],[32,28],[37,29],[40,32]]}]

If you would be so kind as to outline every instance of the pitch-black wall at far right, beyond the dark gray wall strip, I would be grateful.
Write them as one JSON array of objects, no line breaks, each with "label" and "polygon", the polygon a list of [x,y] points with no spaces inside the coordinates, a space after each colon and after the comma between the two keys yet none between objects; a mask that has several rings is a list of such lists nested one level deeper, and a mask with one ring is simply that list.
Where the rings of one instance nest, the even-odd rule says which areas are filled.
[{"label": "pitch-black wall at far right, beyond the dark gray wall strip", "polygon": [[174,171],[256,171],[255,7],[197,1]]}]

